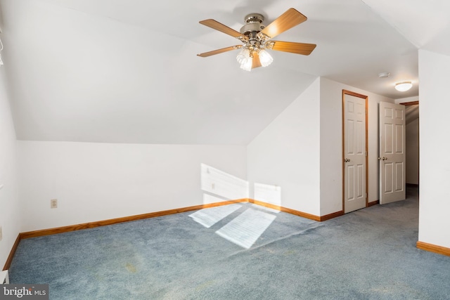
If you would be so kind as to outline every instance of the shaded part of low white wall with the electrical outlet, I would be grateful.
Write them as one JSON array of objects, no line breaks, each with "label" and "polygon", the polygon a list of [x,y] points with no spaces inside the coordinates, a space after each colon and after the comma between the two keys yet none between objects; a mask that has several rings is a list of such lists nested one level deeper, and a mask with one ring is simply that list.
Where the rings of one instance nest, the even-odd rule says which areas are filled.
[{"label": "shaded part of low white wall with the electrical outlet", "polygon": [[203,204],[201,163],[246,175],[243,146],[18,141],[18,156],[22,231]]}]

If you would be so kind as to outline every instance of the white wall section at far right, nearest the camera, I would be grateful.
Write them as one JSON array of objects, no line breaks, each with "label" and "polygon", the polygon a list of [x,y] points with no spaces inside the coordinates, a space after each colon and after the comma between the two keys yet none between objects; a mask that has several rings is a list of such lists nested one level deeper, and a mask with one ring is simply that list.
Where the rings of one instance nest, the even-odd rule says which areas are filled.
[{"label": "white wall section at far right, nearest the camera", "polygon": [[419,240],[450,248],[450,57],[419,50]]}]

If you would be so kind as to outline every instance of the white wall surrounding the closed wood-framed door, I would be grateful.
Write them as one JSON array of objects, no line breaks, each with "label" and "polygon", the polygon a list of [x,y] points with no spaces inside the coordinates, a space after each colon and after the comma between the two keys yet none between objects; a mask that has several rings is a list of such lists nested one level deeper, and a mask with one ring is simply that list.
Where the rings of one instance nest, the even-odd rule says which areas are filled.
[{"label": "white wall surrounding the closed wood-framed door", "polygon": [[321,78],[321,216],[342,210],[342,90],[368,96],[368,202],[379,200],[378,103],[375,93]]}]

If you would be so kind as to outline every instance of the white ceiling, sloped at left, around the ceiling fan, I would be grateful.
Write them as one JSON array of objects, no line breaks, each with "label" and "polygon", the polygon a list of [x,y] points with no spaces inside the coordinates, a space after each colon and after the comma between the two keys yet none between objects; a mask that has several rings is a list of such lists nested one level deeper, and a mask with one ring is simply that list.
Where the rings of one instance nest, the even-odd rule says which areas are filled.
[{"label": "white ceiling, sloped at left, around the ceiling fan", "polygon": [[[388,1],[0,0],[0,7],[2,68],[20,140],[247,145],[317,77],[390,98],[418,95],[422,44],[408,31],[416,20],[405,14],[394,22]],[[240,70],[234,51],[196,56],[239,44],[199,20],[239,30],[248,13],[262,13],[267,25],[290,7],[308,20],[277,39],[317,44],[310,56],[272,51],[274,63],[252,72]],[[379,79],[380,72],[392,75]],[[404,80],[414,88],[395,91]]]}]

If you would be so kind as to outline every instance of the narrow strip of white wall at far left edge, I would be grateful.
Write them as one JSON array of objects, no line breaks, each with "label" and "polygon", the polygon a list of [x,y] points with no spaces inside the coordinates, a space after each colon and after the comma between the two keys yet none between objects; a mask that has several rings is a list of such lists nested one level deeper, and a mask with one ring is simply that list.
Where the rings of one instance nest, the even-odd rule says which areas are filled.
[{"label": "narrow strip of white wall at far left edge", "polygon": [[15,131],[6,91],[5,66],[0,66],[0,270],[20,232],[20,204],[16,176]]}]

